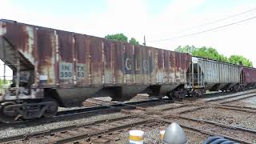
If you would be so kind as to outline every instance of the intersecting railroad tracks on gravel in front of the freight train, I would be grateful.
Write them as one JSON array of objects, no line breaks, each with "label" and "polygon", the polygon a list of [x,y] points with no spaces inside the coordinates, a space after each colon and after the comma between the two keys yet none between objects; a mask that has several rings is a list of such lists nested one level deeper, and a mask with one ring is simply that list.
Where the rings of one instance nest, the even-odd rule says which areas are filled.
[{"label": "intersecting railroad tracks on gravel in front of the freight train", "polygon": [[[253,92],[248,91],[246,96],[242,94],[236,94],[239,98],[247,98],[251,97],[249,94],[253,94]],[[226,98],[234,98],[235,96],[230,96]],[[166,106],[165,108],[155,110],[154,108],[150,107],[142,107],[143,104],[146,105],[150,104],[156,104],[158,102],[162,102],[162,100],[159,99],[150,99],[149,102],[143,103],[143,102],[129,102],[129,103],[119,103],[119,102],[110,102],[109,106],[102,106],[102,109],[98,109],[96,107],[87,108],[87,110],[84,111],[84,109],[80,110],[66,110],[66,111],[60,111],[56,117],[54,118],[60,118],[60,117],[66,117],[66,116],[74,116],[75,114],[85,114],[85,113],[94,113],[96,111],[104,111],[104,110],[120,110],[122,113],[126,114],[126,116],[121,118],[109,118],[101,121],[95,121],[95,122],[88,122],[81,125],[74,125],[74,126],[66,126],[59,129],[53,129],[53,130],[46,130],[34,134],[27,134],[27,135],[17,135],[14,137],[9,138],[2,138],[0,139],[0,142],[43,142],[43,143],[66,143],[66,142],[91,142],[93,141],[91,138],[98,137],[96,139],[102,139],[102,141],[106,142],[113,142],[115,141],[114,138],[110,138],[110,134],[113,134],[114,132],[117,132],[118,130],[124,130],[128,131],[130,126],[148,126],[152,122],[156,126],[161,126],[162,123],[169,124],[170,122],[180,122],[181,126],[185,128],[186,130],[192,130],[197,131],[202,134],[206,135],[220,135],[224,138],[230,138],[236,142],[243,142],[243,143],[253,143],[256,141],[254,139],[254,135],[256,135],[255,130],[245,129],[241,127],[236,126],[230,126],[225,125],[218,122],[210,122],[206,120],[201,119],[195,119],[195,118],[186,118],[184,116],[181,116],[181,114],[186,114],[191,111],[200,110],[209,108],[210,103],[216,103],[219,102],[217,105],[218,108],[228,109],[228,110],[241,110],[246,111],[250,113],[254,113],[254,109],[243,109],[243,107],[238,106],[229,106],[226,104],[226,98],[218,98],[218,100],[210,101],[210,102],[177,102],[178,106]],[[229,99],[229,101],[233,101],[234,99]],[[235,100],[238,100],[236,98]],[[170,102],[170,101],[169,101]],[[163,102],[163,103],[167,103]],[[130,109],[125,109],[130,108]],[[89,110],[90,109],[90,110]],[[134,113],[138,110],[137,112]],[[170,112],[171,111],[171,112]],[[198,124],[201,124],[198,127]],[[214,127],[215,126],[215,127]],[[216,127],[217,126],[217,127]],[[196,128],[195,128],[196,127]],[[210,130],[206,130],[205,128],[209,127]],[[87,131],[86,131],[87,130]],[[218,131],[218,133],[213,132]],[[225,131],[229,131],[230,134],[224,133]],[[78,133],[77,133],[78,132]],[[231,135],[234,134],[234,135]],[[239,137],[235,137],[236,134],[239,134]],[[247,136],[246,136],[247,135]],[[244,136],[244,137],[243,137]],[[94,141],[97,141],[97,140]]]}]

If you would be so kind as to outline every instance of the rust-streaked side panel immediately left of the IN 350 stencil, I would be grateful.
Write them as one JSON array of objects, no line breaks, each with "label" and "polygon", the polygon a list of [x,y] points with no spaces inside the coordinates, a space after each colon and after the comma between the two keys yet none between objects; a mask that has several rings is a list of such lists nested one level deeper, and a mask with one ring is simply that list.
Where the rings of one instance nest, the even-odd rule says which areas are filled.
[{"label": "rust-streaked side panel immediately left of the IN 350 stencil", "polygon": [[37,53],[35,72],[38,73],[38,81],[40,86],[55,86],[58,74],[56,72],[56,50],[58,37],[54,34],[54,30],[46,28],[38,28],[37,30]]}]

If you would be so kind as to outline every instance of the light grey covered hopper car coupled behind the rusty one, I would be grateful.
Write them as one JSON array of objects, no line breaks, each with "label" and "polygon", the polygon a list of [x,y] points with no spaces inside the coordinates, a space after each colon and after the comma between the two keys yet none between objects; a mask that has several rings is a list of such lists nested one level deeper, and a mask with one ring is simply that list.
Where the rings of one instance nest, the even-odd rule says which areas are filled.
[{"label": "light grey covered hopper car coupled behind the rusty one", "polygon": [[238,90],[242,67],[227,62],[193,57],[186,73],[186,89],[196,95],[206,90]]}]

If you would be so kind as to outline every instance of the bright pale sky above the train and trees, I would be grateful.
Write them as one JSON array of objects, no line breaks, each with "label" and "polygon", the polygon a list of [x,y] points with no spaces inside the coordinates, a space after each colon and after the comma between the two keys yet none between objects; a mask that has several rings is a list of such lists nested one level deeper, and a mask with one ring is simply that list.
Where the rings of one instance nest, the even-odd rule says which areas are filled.
[{"label": "bright pale sky above the train and trees", "polygon": [[[256,16],[256,0],[1,0],[0,18],[104,37],[124,33],[149,46],[174,50],[181,45],[212,46],[221,54],[242,54],[256,66],[256,18],[220,30],[179,37]],[[198,27],[200,26],[200,27]],[[1,71],[0,71],[1,72]]]}]

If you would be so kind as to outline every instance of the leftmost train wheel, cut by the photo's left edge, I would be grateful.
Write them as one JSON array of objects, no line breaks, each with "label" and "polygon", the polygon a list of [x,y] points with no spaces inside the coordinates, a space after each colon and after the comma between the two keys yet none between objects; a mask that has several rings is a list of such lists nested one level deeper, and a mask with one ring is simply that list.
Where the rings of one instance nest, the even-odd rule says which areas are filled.
[{"label": "leftmost train wheel, cut by the photo's left edge", "polygon": [[18,119],[18,111],[14,110],[14,102],[3,102],[0,108],[0,122],[13,123]]}]

